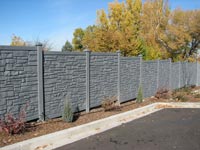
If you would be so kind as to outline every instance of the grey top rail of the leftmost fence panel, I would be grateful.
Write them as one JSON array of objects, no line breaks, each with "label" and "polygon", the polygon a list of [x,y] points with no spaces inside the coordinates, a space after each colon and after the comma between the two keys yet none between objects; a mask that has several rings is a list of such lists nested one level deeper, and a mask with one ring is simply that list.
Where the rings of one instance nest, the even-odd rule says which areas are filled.
[{"label": "grey top rail of the leftmost fence panel", "polygon": [[4,46],[4,45],[0,45],[0,51],[3,50],[18,50],[18,51],[36,51],[37,48],[35,46]]}]

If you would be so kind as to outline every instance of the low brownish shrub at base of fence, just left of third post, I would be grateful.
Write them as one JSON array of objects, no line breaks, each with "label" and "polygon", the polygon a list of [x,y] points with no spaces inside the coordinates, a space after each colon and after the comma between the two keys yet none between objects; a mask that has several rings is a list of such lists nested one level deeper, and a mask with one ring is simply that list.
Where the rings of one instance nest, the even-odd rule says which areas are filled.
[{"label": "low brownish shrub at base of fence, just left of third post", "polygon": [[115,96],[108,97],[101,102],[104,111],[110,111],[119,108],[118,100]]}]

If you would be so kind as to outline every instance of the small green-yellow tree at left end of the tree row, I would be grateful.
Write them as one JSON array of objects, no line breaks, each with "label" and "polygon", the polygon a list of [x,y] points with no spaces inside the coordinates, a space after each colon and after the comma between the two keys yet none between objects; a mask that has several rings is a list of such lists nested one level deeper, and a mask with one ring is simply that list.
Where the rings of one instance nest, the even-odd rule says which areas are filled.
[{"label": "small green-yellow tree at left end of the tree row", "polygon": [[82,28],[75,29],[74,38],[72,40],[72,44],[74,47],[74,50],[82,51],[84,49],[84,46],[82,44],[83,37],[84,37],[84,30]]}]

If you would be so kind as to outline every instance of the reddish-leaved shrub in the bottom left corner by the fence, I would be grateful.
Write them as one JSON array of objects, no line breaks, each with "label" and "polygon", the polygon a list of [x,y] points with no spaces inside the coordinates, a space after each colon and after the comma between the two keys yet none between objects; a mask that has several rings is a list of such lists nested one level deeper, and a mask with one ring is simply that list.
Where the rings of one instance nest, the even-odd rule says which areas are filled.
[{"label": "reddish-leaved shrub in the bottom left corner by the fence", "polygon": [[26,110],[27,105],[23,107],[18,117],[14,117],[13,114],[8,113],[3,119],[0,119],[0,132],[6,132],[7,134],[20,134],[24,133],[26,129]]}]

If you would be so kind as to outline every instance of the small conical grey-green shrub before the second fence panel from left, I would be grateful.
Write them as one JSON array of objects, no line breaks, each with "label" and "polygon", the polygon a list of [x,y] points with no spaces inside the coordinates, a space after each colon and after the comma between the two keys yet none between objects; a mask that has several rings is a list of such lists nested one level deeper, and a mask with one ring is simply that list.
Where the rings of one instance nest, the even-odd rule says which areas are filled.
[{"label": "small conical grey-green shrub before the second fence panel from left", "polygon": [[73,118],[74,118],[74,114],[72,112],[69,99],[66,97],[65,102],[64,102],[62,119],[63,121],[70,123],[70,122],[73,122]]}]

